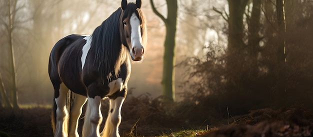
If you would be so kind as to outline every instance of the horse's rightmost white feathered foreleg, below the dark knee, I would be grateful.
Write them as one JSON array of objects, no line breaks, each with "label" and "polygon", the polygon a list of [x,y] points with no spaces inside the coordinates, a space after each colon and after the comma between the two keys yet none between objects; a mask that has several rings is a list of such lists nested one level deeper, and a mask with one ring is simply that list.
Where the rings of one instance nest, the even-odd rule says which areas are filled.
[{"label": "horse's rightmost white feathered foreleg, below the dark knee", "polygon": [[109,100],[108,115],[104,125],[104,136],[119,136],[118,126],[121,121],[120,110],[124,102],[124,97],[117,97]]}]

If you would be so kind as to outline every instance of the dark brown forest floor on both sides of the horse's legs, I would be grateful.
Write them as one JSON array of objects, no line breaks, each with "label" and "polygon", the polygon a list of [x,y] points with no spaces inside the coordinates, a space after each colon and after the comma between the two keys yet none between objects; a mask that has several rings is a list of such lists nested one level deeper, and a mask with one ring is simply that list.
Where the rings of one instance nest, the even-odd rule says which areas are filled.
[{"label": "dark brown forest floor on both sides of the horse's legs", "polygon": [[[0,137],[6,134],[53,136],[50,111],[50,108],[42,107],[19,110],[0,108]],[[133,117],[123,117],[119,128],[122,136],[313,136],[313,113],[301,106],[275,110],[264,108],[251,110],[245,115],[229,115],[228,118],[221,119],[223,122],[201,127],[200,130],[184,129],[179,123],[175,125],[172,121],[163,121],[162,124],[140,123],[141,119]]]}]

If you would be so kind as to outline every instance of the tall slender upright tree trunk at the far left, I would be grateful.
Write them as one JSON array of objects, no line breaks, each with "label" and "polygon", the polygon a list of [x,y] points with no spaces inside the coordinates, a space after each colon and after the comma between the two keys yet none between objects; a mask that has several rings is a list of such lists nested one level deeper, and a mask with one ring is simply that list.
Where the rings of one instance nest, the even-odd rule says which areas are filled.
[{"label": "tall slender upright tree trunk at the far left", "polygon": [[[15,2],[16,3],[16,2]],[[8,41],[9,41],[9,70],[11,75],[11,88],[10,97],[12,101],[13,108],[18,108],[17,105],[17,89],[16,89],[16,69],[15,69],[15,56],[14,56],[14,46],[13,46],[13,13],[11,9],[11,0],[7,1],[8,5]],[[16,5],[16,4],[15,4]]]}]

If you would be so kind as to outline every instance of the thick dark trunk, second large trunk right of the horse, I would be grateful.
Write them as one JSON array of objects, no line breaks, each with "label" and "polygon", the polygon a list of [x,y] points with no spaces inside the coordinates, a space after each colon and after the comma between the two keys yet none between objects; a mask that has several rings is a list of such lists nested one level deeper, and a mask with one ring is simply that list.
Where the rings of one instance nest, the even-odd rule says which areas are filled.
[{"label": "thick dark trunk, second large trunk right of the horse", "polygon": [[[228,0],[228,45],[227,45],[227,64],[228,82],[240,80],[238,78],[245,74],[241,69],[246,58],[243,49],[246,46],[243,42],[243,13],[248,0]],[[237,69],[233,69],[237,68]]]}]

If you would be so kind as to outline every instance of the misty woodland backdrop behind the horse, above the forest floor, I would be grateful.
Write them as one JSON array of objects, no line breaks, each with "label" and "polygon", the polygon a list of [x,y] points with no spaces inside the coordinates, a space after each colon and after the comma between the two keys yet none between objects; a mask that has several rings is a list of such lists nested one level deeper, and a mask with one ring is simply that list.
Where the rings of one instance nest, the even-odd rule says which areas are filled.
[{"label": "misty woodland backdrop behind the horse, above the forest floor", "polygon": [[[47,66],[54,43],[69,34],[91,34],[120,6],[120,0],[11,0],[9,25],[7,1],[0,0],[0,73],[9,92],[12,39],[19,104],[50,104]],[[312,107],[313,1],[285,1],[283,34],[275,0],[236,1],[178,0],[177,101],[237,111],[293,103]],[[166,13],[165,0],[154,3]],[[165,27],[149,1],[142,4],[148,44],[143,61],[132,62],[128,95],[155,98],[161,95]]]}]

